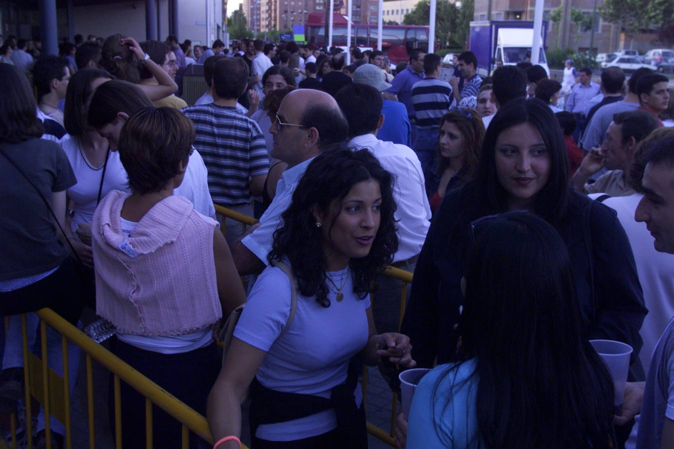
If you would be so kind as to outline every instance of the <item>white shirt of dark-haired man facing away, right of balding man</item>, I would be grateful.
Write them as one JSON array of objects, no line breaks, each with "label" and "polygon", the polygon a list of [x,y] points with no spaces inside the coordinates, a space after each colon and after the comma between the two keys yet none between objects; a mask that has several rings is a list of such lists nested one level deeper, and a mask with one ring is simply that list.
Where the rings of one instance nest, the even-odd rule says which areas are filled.
[{"label": "white shirt of dark-haired man facing away, right of balding man", "polygon": [[431,226],[431,207],[424,185],[423,170],[410,147],[377,139],[373,134],[359,135],[348,143],[353,149],[369,148],[385,170],[393,174],[393,197],[398,205],[398,251],[394,262],[406,261],[421,252]]}]

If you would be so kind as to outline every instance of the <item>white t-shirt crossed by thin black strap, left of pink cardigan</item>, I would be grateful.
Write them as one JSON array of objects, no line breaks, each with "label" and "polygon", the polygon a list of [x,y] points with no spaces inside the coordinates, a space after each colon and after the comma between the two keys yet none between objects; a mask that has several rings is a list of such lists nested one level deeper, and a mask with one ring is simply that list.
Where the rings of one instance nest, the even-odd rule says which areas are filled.
[{"label": "white t-shirt crossed by thin black strap, left of pink cardigan", "polygon": [[[98,205],[98,188],[103,174],[103,166],[94,168],[84,156],[82,145],[78,137],[71,137],[61,142],[61,147],[73,168],[78,183],[67,190],[68,197],[75,203],[75,215],[70,225],[73,236],[77,238],[75,230],[80,223],[91,223],[94,211]],[[108,164],[105,168],[105,178],[100,198],[103,199],[110,191],[129,192],[127,174],[119,160],[119,152],[111,151]]]}]

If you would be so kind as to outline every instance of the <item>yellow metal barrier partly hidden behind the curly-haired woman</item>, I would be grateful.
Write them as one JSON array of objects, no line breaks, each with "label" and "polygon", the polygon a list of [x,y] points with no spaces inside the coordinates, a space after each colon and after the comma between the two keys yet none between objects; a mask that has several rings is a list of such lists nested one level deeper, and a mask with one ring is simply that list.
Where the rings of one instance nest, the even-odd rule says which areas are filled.
[{"label": "yellow metal barrier partly hidden behind the curly-haired woman", "polygon": [[[249,217],[248,215],[244,215],[243,213],[227,209],[226,207],[215,205],[215,210],[217,213],[222,215],[222,223],[220,226],[222,232],[224,232],[225,230],[224,223],[226,219],[233,219],[234,221],[239,221],[241,223],[241,226],[243,227],[243,232],[245,232],[247,226],[251,226],[257,223],[257,220],[254,219],[253,217]],[[409,289],[409,285],[412,283],[412,273],[410,273],[409,271],[398,269],[396,267],[386,267],[384,268],[383,274],[388,277],[399,279],[402,282],[402,293],[400,295],[400,314],[398,316],[398,329],[400,329],[402,317],[405,314],[405,306],[407,303],[407,291]],[[374,301],[375,299],[372,298],[372,300]],[[363,400],[365,400],[365,398],[367,397],[367,368],[363,370],[362,387],[363,387]],[[385,442],[386,444],[390,444],[390,446],[395,447],[396,444],[394,443],[393,436],[394,430],[396,429],[396,415],[397,415],[396,409],[398,407],[398,394],[392,392],[392,396],[393,397],[391,401],[391,425],[389,431],[381,429],[381,427],[377,427],[372,423],[367,423],[367,432],[370,435],[379,438],[379,440]]]}]

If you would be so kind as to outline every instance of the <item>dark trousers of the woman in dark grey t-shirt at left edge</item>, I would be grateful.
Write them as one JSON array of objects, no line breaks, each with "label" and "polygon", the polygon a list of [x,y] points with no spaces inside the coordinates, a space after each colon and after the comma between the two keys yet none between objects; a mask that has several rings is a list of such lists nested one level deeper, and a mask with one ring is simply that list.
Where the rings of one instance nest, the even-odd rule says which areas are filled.
[{"label": "dark trousers of the woman in dark grey t-shirt at left edge", "polygon": [[39,281],[14,291],[0,292],[0,316],[35,312],[49,307],[77,325],[88,289],[77,263],[66,258],[59,269]]}]

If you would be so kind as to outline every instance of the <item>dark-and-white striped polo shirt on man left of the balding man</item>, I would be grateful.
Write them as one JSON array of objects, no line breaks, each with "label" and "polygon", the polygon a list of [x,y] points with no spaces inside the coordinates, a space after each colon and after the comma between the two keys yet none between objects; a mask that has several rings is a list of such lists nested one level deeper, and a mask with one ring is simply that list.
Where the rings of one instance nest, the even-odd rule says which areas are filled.
[{"label": "dark-and-white striped polo shirt on man left of the balding man", "polygon": [[181,109],[194,123],[194,147],[208,168],[208,190],[214,203],[250,201],[249,178],[269,171],[264,135],[257,123],[236,108],[215,103]]}]

